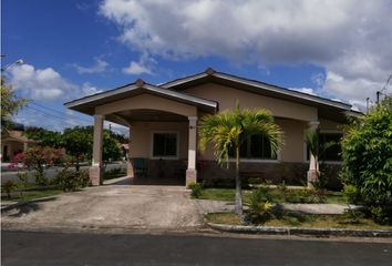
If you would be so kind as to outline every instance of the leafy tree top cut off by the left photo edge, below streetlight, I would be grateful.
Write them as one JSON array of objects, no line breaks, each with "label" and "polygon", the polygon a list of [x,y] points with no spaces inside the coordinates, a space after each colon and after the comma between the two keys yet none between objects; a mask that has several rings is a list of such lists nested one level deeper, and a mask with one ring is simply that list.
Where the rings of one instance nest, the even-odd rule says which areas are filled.
[{"label": "leafy tree top cut off by the left photo edge, below streetlight", "polygon": [[12,127],[12,115],[28,104],[28,100],[17,98],[12,85],[7,84],[1,75],[1,132],[8,132]]}]

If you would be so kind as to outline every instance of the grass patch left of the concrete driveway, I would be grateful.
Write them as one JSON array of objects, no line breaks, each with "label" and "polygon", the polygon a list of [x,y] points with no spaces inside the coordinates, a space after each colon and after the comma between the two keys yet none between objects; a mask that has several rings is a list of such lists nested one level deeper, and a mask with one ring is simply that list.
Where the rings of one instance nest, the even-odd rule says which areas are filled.
[{"label": "grass patch left of the concrete driveway", "polygon": [[1,201],[25,202],[41,197],[54,196],[64,193],[56,187],[29,187],[28,191],[12,191],[11,198],[9,198],[2,191]]}]

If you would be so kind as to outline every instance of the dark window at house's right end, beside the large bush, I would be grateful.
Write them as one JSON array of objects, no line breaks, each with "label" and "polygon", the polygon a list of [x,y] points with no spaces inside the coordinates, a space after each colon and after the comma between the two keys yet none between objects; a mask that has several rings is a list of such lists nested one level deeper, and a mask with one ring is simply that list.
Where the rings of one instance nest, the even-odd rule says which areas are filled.
[{"label": "dark window at house's right end, beside the large bush", "polygon": [[[334,144],[328,147],[320,156],[320,161],[339,162],[341,161],[341,144],[342,133],[319,133],[321,146],[324,143],[333,142]],[[307,160],[310,158],[309,149],[307,149]]]}]

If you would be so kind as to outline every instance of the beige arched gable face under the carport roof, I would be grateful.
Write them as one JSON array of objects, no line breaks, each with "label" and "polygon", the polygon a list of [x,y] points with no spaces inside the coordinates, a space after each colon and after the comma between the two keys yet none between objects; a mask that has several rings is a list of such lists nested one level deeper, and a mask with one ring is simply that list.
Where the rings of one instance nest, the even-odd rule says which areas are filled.
[{"label": "beige arched gable face under the carport roof", "polygon": [[96,106],[95,114],[105,115],[125,110],[137,109],[159,110],[185,116],[193,116],[197,114],[197,109],[195,106],[147,93]]}]

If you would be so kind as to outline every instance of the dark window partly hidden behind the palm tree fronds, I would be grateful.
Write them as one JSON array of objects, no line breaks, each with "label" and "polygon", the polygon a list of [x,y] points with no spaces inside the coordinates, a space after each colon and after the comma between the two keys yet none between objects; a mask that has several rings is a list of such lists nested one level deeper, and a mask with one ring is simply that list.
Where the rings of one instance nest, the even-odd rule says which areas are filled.
[{"label": "dark window partly hidden behind the palm tree fronds", "polygon": [[[229,152],[230,157],[235,157],[234,150]],[[271,144],[264,135],[254,135],[243,143],[239,150],[241,158],[276,160],[272,154]]]}]

